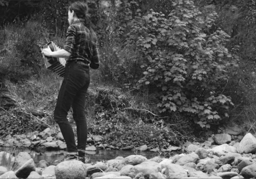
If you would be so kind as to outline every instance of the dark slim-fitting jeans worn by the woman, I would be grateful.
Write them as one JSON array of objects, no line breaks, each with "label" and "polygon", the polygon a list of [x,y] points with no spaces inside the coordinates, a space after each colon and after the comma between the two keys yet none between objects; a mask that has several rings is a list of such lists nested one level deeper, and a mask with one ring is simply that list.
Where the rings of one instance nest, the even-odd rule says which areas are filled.
[{"label": "dark slim-fitting jeans worn by the woman", "polygon": [[[65,76],[61,84],[54,119],[60,126],[60,131],[67,144],[67,152],[85,150],[87,139],[87,123],[85,119],[86,91],[90,84],[89,67],[83,62],[69,62],[65,67]],[[75,135],[67,120],[68,111],[72,105],[73,119],[76,122],[77,147]]]}]

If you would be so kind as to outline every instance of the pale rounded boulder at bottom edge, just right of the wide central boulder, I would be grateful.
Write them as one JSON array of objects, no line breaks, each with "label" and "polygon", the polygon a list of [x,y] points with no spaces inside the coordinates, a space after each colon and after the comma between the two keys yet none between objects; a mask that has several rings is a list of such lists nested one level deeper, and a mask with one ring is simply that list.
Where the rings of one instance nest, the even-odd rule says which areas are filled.
[{"label": "pale rounded boulder at bottom edge, just right of the wide central boulder", "polygon": [[164,175],[168,178],[183,178],[188,177],[186,170],[178,164],[169,164],[164,170]]}]

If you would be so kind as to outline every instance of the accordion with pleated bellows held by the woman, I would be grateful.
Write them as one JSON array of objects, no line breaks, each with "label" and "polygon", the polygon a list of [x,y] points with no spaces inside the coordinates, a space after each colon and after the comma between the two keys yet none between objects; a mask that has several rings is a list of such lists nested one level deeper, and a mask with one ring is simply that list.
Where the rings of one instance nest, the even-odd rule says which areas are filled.
[{"label": "accordion with pleated bellows held by the woman", "polygon": [[[53,42],[49,42],[41,48],[41,50],[49,48],[51,51],[59,51],[60,48]],[[58,74],[60,77],[64,77],[65,75],[65,58],[54,58],[54,57],[46,57],[44,56],[44,64],[47,69],[52,70],[54,73]]]}]

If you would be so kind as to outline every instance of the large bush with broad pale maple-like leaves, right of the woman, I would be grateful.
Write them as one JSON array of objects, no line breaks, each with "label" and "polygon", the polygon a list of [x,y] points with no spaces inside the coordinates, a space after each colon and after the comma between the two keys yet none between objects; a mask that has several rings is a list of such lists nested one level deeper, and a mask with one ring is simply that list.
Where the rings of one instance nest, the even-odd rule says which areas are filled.
[{"label": "large bush with broad pale maple-like leaves, right of the woman", "polygon": [[167,17],[150,10],[132,26],[130,38],[144,57],[140,59],[144,76],[137,86],[159,93],[160,112],[185,113],[209,128],[228,117],[233,105],[222,94],[228,70],[236,65],[225,48],[229,36],[220,29],[213,31],[216,12],[205,17],[192,1],[173,6]]}]

